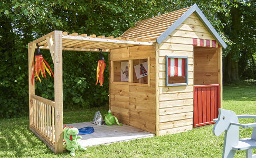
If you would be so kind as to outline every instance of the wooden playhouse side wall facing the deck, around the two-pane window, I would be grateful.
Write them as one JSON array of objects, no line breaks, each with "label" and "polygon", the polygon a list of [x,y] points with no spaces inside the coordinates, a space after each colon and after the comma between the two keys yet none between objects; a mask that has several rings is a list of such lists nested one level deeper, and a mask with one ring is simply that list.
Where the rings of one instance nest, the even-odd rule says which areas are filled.
[{"label": "wooden playhouse side wall facing the deck, around the two-pane window", "polygon": [[[120,69],[117,68],[117,65],[113,64],[116,62],[111,61],[135,60],[138,58],[148,58],[148,56],[150,56],[149,87],[147,84],[139,86],[132,85],[132,83],[130,84],[128,82],[115,82],[115,76],[118,75],[117,72],[120,75]],[[145,130],[151,133],[155,133],[155,46],[131,46],[111,50],[109,73],[111,73],[111,64],[113,64],[114,67],[112,68],[112,70],[113,72],[115,72],[113,73],[113,76],[109,75],[109,108],[111,109],[112,114],[117,116],[118,121],[120,121],[121,123],[134,126],[138,129]]]}]

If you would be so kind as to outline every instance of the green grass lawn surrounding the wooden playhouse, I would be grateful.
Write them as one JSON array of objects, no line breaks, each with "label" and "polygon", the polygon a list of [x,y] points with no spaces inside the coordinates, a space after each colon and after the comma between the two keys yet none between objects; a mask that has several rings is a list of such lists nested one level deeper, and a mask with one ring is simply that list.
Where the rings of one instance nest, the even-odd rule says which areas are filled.
[{"label": "green grass lawn surrounding the wooden playhouse", "polygon": [[[64,123],[91,121],[94,113],[107,113],[108,107],[64,111]],[[232,85],[223,88],[223,108],[236,114],[256,115],[256,85]],[[240,123],[252,123],[244,119]],[[88,147],[78,157],[221,157],[224,133],[216,137],[213,125],[192,131],[150,137],[129,142]],[[250,137],[252,128],[241,129],[240,137]],[[256,153],[256,149],[253,150]],[[0,157],[70,157],[68,152],[55,155],[29,130],[29,117],[0,120]],[[245,157],[236,152],[235,157]]]}]

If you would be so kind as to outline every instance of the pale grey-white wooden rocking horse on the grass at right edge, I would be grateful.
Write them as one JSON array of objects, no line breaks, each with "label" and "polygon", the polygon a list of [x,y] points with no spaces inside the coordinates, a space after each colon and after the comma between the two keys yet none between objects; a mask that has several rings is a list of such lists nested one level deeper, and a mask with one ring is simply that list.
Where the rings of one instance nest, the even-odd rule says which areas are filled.
[{"label": "pale grey-white wooden rocking horse on the grass at right edge", "polygon": [[[233,111],[219,108],[219,116],[213,120],[216,122],[213,127],[214,135],[219,136],[225,131],[222,157],[234,157],[236,151],[245,150],[246,157],[256,158],[256,154],[252,155],[252,149],[256,149],[256,122],[240,124],[238,118],[256,119],[256,115],[236,115]],[[252,137],[239,139],[239,126],[243,128],[253,127]]]}]

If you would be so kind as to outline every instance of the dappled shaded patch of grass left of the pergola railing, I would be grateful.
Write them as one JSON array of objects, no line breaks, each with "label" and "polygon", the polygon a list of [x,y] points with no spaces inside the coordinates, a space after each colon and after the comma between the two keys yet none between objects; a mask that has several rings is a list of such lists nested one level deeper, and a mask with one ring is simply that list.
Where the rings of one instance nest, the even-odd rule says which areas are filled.
[{"label": "dappled shaded patch of grass left of the pergola railing", "polygon": [[28,117],[1,120],[1,122],[0,157],[51,153],[46,145],[29,130]]}]

